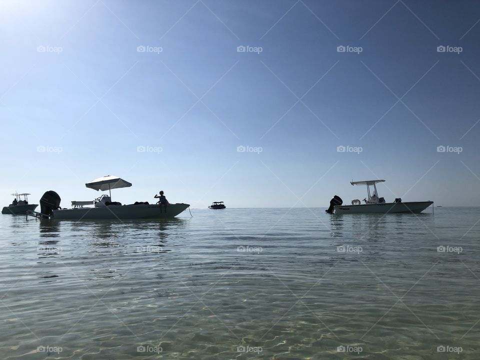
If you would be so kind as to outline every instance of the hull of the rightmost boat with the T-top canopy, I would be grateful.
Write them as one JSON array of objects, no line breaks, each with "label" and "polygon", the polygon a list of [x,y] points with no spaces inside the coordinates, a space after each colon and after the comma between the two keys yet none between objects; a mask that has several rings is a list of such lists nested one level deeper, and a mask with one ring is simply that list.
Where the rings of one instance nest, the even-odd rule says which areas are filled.
[{"label": "hull of the rightmost boat with the T-top canopy", "polygon": [[430,206],[433,201],[383,202],[377,204],[337,205],[335,213],[419,213]]}]

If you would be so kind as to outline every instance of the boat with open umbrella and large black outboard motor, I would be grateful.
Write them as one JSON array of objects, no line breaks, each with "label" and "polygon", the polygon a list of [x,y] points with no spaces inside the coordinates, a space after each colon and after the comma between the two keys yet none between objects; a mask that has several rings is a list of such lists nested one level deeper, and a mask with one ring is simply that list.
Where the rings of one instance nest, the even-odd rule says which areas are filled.
[{"label": "boat with open umbrella and large black outboard motor", "polygon": [[[72,208],[62,209],[60,197],[55,191],[46,191],[40,199],[41,213],[53,219],[60,220],[90,220],[90,219],[157,219],[175,217],[188,208],[189,204],[149,204],[136,202],[122,205],[111,201],[111,189],[129,187],[131,183],[117,176],[103,176],[85,184],[94,190],[109,191],[109,195],[101,195],[92,201],[72,201]],[[93,207],[83,207],[93,205]]]}]

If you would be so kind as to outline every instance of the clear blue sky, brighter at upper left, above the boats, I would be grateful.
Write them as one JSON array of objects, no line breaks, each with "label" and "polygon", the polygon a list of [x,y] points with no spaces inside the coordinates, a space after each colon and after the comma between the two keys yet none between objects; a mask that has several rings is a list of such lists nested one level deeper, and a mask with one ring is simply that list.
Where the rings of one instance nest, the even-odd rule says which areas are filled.
[{"label": "clear blue sky, brighter at upper left, above the boats", "polygon": [[480,202],[480,3],[0,2],[0,200]]}]

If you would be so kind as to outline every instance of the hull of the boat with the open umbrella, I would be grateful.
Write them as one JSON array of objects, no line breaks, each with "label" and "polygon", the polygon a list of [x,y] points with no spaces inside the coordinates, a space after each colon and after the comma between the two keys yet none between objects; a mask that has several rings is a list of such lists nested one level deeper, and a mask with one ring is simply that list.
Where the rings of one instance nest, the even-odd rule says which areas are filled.
[{"label": "hull of the boat with the open umbrella", "polygon": [[53,210],[52,218],[58,220],[96,219],[157,219],[171,218],[185,210],[189,204],[168,204],[166,208],[155,204],[109,205]]}]

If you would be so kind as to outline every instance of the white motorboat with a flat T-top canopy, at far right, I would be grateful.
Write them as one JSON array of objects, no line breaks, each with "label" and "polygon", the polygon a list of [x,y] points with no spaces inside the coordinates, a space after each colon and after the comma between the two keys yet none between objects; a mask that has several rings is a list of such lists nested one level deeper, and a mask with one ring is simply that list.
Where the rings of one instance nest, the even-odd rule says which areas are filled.
[{"label": "white motorboat with a flat T-top canopy, at far right", "polygon": [[[325,210],[328,213],[335,212],[336,214],[345,213],[419,213],[433,204],[433,201],[405,201],[401,198],[395,198],[393,202],[386,202],[383,197],[378,196],[376,184],[378,182],[385,182],[385,180],[363,180],[350,181],[351,185],[366,185],[367,197],[361,203],[359,199],[351,200],[351,205],[343,205],[339,196],[335,195],[330,201],[330,207]],[[372,191],[370,191],[372,186]]]}]

